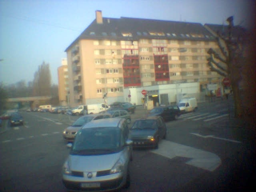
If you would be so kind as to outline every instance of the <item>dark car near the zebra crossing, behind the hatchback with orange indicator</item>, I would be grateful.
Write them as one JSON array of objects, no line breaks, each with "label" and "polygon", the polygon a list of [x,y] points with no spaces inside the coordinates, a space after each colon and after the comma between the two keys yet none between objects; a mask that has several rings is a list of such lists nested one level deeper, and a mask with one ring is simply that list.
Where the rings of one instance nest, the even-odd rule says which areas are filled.
[{"label": "dark car near the zebra crossing, behind the hatchback with orange indicator", "polygon": [[154,107],[148,113],[148,116],[161,116],[164,121],[177,120],[180,115],[180,108],[178,106],[170,105]]}]

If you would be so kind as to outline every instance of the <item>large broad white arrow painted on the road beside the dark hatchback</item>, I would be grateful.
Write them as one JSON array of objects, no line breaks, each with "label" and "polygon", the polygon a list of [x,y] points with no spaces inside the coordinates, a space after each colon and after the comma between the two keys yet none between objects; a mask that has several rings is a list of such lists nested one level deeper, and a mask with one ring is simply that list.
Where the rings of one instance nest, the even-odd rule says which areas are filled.
[{"label": "large broad white arrow painted on the road beside the dark hatchback", "polygon": [[159,142],[159,148],[151,150],[151,152],[170,159],[176,156],[192,158],[186,164],[208,171],[214,171],[221,164],[220,158],[214,153],[167,140],[161,140]]}]

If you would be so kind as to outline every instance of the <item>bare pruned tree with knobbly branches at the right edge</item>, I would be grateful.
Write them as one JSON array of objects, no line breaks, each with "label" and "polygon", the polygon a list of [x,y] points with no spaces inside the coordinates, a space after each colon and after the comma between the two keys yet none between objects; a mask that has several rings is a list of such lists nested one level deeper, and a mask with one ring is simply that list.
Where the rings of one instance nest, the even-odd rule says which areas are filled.
[{"label": "bare pruned tree with knobbly branches at the right edge", "polygon": [[240,94],[240,81],[242,80],[241,70],[246,65],[244,58],[244,48],[246,41],[244,34],[241,36],[233,36],[234,24],[233,17],[227,19],[228,22],[228,37],[217,32],[217,42],[220,48],[218,53],[210,48],[208,54],[208,65],[211,71],[217,72],[223,77],[229,78],[231,82],[232,92],[234,95],[234,112],[235,117],[240,117],[243,114],[242,97]]}]

